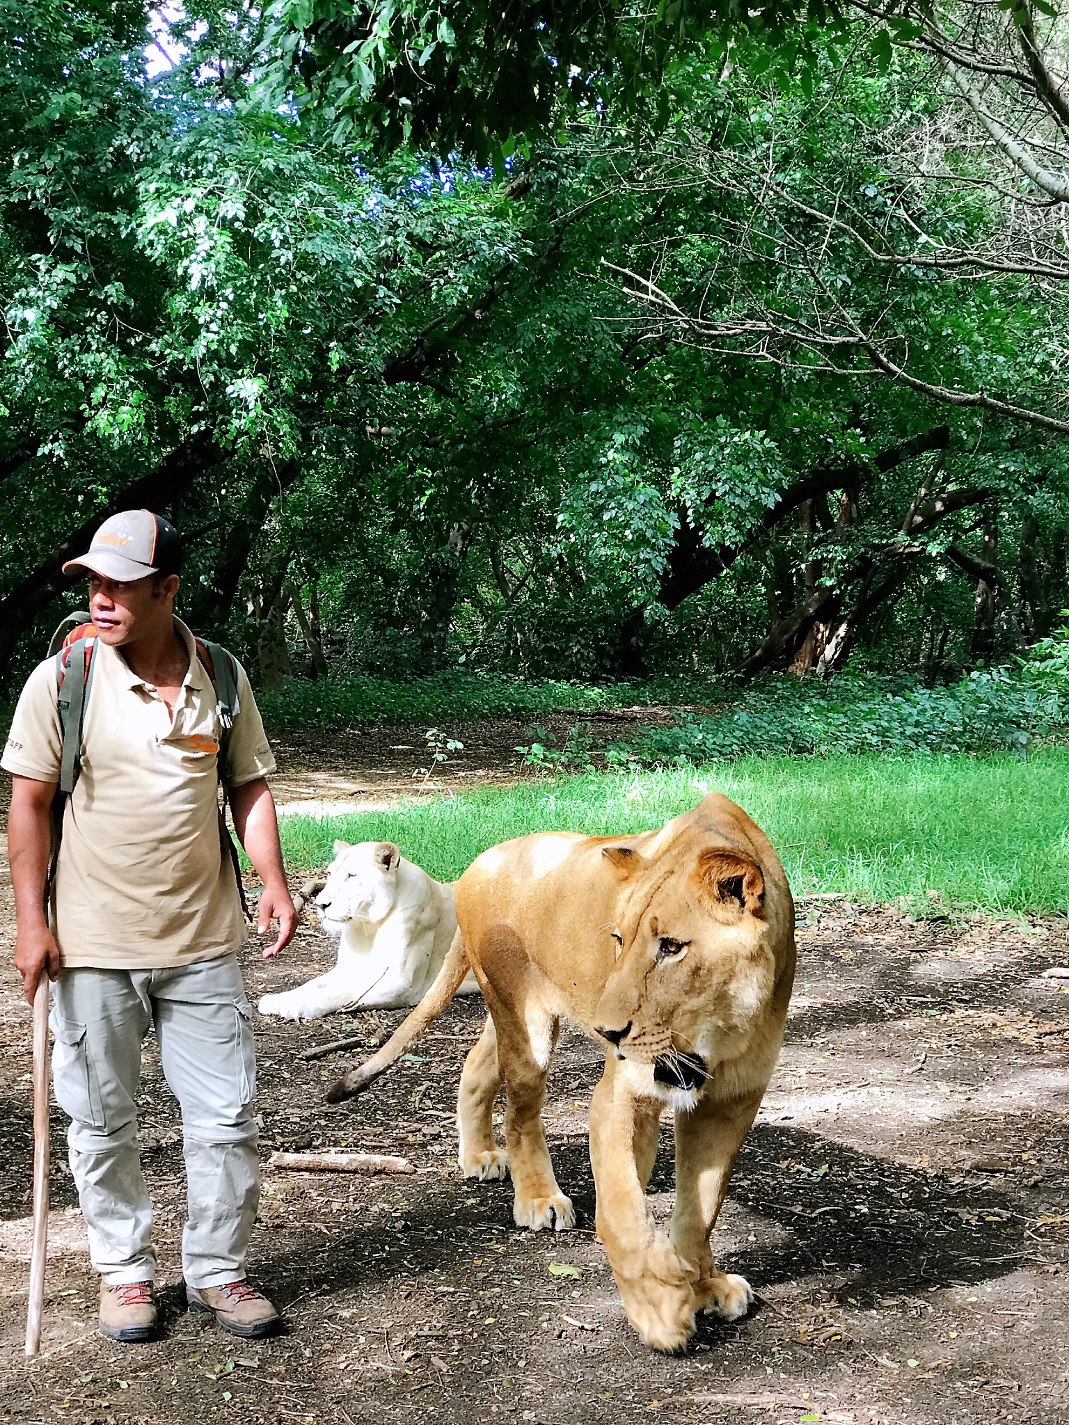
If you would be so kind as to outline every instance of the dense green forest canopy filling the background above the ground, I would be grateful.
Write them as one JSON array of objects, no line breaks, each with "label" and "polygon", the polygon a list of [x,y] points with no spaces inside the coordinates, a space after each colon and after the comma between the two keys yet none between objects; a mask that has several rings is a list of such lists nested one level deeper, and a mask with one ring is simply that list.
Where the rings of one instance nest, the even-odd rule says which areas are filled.
[{"label": "dense green forest canopy filling the background above the ground", "polygon": [[505,14],[4,7],[9,687],[141,504],[268,687],[938,678],[1056,626],[1062,17]]}]

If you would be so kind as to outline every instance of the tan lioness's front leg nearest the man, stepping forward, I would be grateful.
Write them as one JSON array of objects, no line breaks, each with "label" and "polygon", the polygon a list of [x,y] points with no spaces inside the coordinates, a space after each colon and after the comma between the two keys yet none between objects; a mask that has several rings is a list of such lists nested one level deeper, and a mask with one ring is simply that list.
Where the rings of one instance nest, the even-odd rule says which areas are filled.
[{"label": "tan lioness's front leg nearest the man, stepping forward", "polygon": [[631,1092],[627,1066],[610,1059],[590,1100],[590,1163],[597,1188],[597,1234],[627,1320],[647,1345],[676,1351],[693,1334],[701,1302],[686,1264],[646,1203],[660,1110],[659,1099]]}]

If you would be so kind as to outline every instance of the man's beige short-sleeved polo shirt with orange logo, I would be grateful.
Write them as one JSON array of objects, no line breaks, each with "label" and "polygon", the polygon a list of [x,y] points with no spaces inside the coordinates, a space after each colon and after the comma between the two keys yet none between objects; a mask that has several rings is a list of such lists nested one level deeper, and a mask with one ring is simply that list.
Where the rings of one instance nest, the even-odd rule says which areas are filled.
[{"label": "man's beige short-sleeved polo shirt with orange logo", "polygon": [[[117,648],[97,643],[81,775],[67,798],[53,891],[56,940],[67,968],[192,965],[245,942],[234,868],[220,846],[215,691],[192,634],[174,623],[190,653],[174,718]],[[241,667],[237,681],[224,774],[229,787],[275,771]],[[56,658],[48,658],[23,688],[0,765],[58,782],[61,754]]]}]

